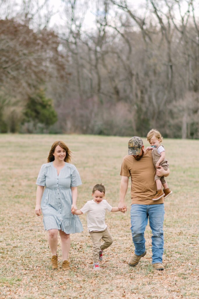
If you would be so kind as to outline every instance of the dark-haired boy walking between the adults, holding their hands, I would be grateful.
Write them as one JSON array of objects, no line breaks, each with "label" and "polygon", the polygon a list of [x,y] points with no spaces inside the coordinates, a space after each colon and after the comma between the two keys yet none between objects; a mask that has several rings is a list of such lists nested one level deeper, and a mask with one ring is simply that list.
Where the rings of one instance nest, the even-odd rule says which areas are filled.
[{"label": "dark-haired boy walking between the adults, holding their hands", "polygon": [[[93,199],[89,200],[80,210],[72,209],[72,214],[87,213],[87,227],[93,243],[93,269],[99,270],[98,260],[102,260],[102,252],[108,248],[113,240],[105,224],[105,212],[118,212],[118,207],[112,207],[104,199],[105,187],[96,184],[92,189]],[[123,211],[124,213],[125,211]],[[104,243],[100,246],[101,239]]]}]

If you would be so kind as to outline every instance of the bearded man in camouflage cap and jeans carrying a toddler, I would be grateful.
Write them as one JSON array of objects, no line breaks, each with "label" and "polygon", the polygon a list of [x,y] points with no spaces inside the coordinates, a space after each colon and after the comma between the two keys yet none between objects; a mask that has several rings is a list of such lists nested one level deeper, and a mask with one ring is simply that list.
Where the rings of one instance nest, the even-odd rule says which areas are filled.
[{"label": "bearded man in camouflage cap and jeans carrying a toddler", "polygon": [[[161,166],[156,170],[158,176],[168,176],[169,169]],[[146,254],[144,231],[149,218],[152,230],[152,266],[156,270],[164,270],[163,255],[163,219],[164,198],[153,201],[156,193],[154,181],[155,167],[153,165],[151,150],[144,149],[140,137],[132,137],[128,144],[128,155],[124,157],[121,165],[121,184],[119,210],[126,209],[124,202],[127,193],[129,176],[131,177],[131,232],[135,245],[135,252],[129,260],[130,266],[136,266],[141,257]]]}]

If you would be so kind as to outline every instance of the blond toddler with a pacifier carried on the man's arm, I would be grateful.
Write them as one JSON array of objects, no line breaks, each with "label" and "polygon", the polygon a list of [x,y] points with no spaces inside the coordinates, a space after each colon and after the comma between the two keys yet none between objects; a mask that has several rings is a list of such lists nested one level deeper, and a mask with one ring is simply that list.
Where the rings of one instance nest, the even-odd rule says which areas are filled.
[{"label": "blond toddler with a pacifier carried on the man's arm", "polygon": [[[152,149],[152,158],[153,164],[157,169],[159,166],[162,166],[164,170],[167,170],[169,167],[168,161],[165,159],[165,150],[161,145],[163,137],[161,136],[160,132],[156,129],[151,129],[146,136],[146,139],[150,143],[150,147],[146,149]],[[156,194],[153,200],[158,200],[162,196],[166,198],[167,196],[172,194],[172,191],[168,188],[167,182],[164,179],[164,176],[159,177],[155,175],[155,182],[157,185]],[[163,185],[163,190],[162,190]]]}]

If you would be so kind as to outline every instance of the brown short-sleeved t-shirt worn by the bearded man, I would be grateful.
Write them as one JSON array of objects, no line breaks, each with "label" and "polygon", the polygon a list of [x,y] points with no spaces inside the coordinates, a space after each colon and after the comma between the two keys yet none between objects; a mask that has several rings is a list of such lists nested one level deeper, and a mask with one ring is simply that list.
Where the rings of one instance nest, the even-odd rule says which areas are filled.
[{"label": "brown short-sleeved t-shirt worn by the bearded man", "polygon": [[139,161],[135,160],[133,155],[125,156],[120,175],[131,177],[131,205],[154,205],[164,202],[163,197],[152,200],[156,192],[156,183],[151,150],[146,150]]}]

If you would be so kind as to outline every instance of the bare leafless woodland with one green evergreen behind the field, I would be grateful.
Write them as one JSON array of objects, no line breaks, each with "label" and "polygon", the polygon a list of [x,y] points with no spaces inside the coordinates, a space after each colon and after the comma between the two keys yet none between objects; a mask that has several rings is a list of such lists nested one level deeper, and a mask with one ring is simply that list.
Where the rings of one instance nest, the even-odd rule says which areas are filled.
[{"label": "bare leafless woodland with one green evergreen behind the field", "polygon": [[199,138],[198,1],[62,0],[53,28],[49,0],[22,2],[0,20],[0,132]]}]

